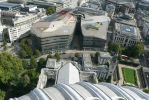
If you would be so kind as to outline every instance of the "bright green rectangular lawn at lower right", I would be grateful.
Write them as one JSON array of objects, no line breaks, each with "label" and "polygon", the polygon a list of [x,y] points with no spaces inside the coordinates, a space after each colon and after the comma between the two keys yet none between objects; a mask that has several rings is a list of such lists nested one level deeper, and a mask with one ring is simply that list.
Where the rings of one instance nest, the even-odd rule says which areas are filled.
[{"label": "bright green rectangular lawn at lower right", "polygon": [[124,81],[129,84],[137,85],[136,71],[130,68],[123,68]]}]

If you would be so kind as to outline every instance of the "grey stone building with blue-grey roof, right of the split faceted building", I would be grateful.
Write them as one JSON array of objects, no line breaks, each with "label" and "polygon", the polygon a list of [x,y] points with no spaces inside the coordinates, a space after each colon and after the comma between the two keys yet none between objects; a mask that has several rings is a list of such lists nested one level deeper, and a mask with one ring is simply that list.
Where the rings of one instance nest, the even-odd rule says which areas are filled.
[{"label": "grey stone building with blue-grey roof, right of the split faceted building", "polygon": [[122,23],[115,24],[113,43],[119,43],[124,47],[129,47],[140,41],[140,39],[140,32],[137,27]]}]

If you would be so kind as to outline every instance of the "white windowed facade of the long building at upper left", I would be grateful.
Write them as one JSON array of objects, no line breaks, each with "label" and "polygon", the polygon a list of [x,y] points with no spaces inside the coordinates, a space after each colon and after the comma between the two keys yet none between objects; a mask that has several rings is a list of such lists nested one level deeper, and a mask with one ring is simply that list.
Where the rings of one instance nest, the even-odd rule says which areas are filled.
[{"label": "white windowed facade of the long building at upper left", "polygon": [[44,16],[44,11],[27,15],[18,15],[18,18],[13,20],[14,25],[7,26],[10,41],[13,42],[21,35],[28,32],[31,29],[32,24],[39,21]]}]

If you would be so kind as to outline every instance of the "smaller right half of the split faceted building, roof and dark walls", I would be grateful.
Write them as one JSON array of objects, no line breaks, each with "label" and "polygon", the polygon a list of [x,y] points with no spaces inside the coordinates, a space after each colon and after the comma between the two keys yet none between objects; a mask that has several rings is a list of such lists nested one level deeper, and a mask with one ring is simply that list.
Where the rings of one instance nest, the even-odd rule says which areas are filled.
[{"label": "smaller right half of the split faceted building, roof and dark walls", "polygon": [[[86,12],[85,12],[86,10]],[[81,20],[84,50],[106,50],[110,18],[104,11],[84,9]]]}]

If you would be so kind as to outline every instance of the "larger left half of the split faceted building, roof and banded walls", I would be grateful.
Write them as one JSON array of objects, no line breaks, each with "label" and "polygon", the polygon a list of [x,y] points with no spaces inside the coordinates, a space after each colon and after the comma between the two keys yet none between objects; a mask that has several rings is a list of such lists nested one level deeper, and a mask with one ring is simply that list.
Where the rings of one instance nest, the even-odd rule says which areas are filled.
[{"label": "larger left half of the split faceted building, roof and banded walls", "polygon": [[76,17],[71,9],[48,16],[32,26],[34,46],[42,53],[64,52],[69,49],[75,26]]}]

